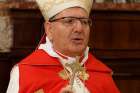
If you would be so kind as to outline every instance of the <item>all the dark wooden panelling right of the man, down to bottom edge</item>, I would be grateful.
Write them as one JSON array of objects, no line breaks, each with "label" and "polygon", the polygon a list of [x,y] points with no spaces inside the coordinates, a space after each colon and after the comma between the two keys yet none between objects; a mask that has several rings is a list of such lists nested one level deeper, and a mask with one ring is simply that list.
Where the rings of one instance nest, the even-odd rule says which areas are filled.
[{"label": "all the dark wooden panelling right of the man, down to bottom edge", "polygon": [[140,12],[92,11],[89,45],[114,72],[121,93],[140,92]]}]

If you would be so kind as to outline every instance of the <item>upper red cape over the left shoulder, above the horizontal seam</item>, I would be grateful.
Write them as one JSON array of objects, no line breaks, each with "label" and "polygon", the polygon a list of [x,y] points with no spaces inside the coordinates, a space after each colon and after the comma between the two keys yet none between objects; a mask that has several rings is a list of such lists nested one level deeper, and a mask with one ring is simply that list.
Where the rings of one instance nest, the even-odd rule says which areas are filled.
[{"label": "upper red cape over the left shoulder, above the horizontal seam", "polygon": [[38,49],[19,62],[19,65],[59,65],[57,58],[51,57],[42,49]]}]

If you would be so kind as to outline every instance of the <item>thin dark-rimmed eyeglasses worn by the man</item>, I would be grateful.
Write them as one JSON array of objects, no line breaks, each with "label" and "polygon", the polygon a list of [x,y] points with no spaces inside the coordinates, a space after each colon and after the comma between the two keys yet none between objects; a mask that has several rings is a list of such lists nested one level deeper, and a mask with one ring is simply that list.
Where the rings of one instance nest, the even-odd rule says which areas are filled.
[{"label": "thin dark-rimmed eyeglasses worn by the man", "polygon": [[92,25],[92,20],[90,18],[78,18],[78,17],[61,17],[57,19],[50,19],[49,22],[61,22],[65,26],[74,26],[77,21],[80,21],[82,26],[89,27]]}]

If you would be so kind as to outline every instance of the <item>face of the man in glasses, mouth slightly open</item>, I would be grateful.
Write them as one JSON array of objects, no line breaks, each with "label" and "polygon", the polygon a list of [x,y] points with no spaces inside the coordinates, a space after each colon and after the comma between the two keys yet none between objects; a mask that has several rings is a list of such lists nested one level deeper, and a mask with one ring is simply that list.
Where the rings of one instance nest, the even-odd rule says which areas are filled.
[{"label": "face of the man in glasses, mouth slightly open", "polygon": [[81,55],[87,47],[90,33],[87,18],[86,11],[77,7],[65,9],[55,16],[54,21],[47,22],[45,28],[53,48],[67,56]]}]

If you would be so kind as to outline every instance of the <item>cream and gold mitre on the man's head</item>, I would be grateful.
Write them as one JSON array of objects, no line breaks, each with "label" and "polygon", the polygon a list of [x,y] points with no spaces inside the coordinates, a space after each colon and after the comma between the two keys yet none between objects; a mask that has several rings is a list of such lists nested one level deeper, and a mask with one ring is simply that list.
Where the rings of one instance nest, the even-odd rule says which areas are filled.
[{"label": "cream and gold mitre on the man's head", "polygon": [[81,7],[89,14],[93,0],[36,0],[45,20],[55,16],[64,9]]}]

